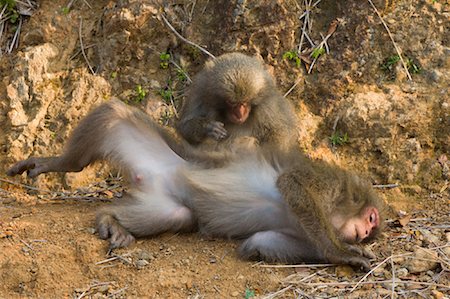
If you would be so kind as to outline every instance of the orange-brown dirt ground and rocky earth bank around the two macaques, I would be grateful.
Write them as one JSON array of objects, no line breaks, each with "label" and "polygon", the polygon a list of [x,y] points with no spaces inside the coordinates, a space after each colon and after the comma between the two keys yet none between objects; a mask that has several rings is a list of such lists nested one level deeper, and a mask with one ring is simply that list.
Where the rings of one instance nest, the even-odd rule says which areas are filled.
[{"label": "orange-brown dirt ground and rocky earth bank around the two macaques", "polygon": [[[95,210],[120,200],[120,172],[0,174],[0,298],[450,298],[448,1],[373,1],[412,80],[371,1],[31,2],[31,13],[15,8],[31,14],[20,26],[0,17],[1,173],[60,152],[87,111],[112,97],[173,126],[208,57],[163,15],[215,56],[263,59],[296,107],[299,146],[362,173],[390,211],[367,276],[242,261],[237,242],[196,234],[140,239],[108,255]],[[329,52],[312,65],[307,40],[319,45],[334,21]],[[297,66],[286,53],[300,44]]]}]

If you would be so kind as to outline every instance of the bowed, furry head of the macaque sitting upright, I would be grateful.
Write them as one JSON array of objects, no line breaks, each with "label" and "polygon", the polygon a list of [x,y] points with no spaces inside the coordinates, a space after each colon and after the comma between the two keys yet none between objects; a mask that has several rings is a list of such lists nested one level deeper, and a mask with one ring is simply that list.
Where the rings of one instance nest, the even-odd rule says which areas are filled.
[{"label": "bowed, furry head of the macaque sitting upright", "polygon": [[224,109],[228,121],[238,125],[245,123],[252,109],[266,98],[263,93],[274,88],[263,64],[241,53],[225,54],[207,62],[205,76],[209,100]]}]

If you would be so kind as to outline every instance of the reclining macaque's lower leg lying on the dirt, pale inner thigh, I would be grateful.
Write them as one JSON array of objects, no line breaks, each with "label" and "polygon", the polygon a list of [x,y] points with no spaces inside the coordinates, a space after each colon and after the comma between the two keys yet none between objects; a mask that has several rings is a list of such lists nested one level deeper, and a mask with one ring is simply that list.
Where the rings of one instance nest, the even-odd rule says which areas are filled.
[{"label": "reclining macaque's lower leg lying on the dirt, pale inner thigh", "polygon": [[111,248],[127,246],[134,237],[191,231],[196,226],[188,207],[158,192],[105,207],[97,213],[96,222],[100,238],[109,239]]}]

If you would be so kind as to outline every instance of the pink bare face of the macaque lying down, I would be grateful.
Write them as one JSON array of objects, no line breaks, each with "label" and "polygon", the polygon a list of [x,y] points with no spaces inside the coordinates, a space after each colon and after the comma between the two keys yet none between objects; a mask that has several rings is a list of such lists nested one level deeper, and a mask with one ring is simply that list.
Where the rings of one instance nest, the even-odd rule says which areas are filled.
[{"label": "pink bare face of the macaque lying down", "polygon": [[355,217],[348,219],[339,231],[348,243],[359,243],[369,237],[380,225],[380,215],[375,207],[368,207]]}]

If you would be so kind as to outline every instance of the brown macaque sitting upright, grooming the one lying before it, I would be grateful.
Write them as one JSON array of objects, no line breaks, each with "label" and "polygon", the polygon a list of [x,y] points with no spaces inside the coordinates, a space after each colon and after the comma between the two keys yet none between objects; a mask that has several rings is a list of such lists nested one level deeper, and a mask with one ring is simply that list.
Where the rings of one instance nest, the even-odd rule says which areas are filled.
[{"label": "brown macaque sitting upright, grooming the one lying before it", "polygon": [[240,53],[206,63],[187,93],[177,130],[191,144],[213,148],[242,136],[278,148],[297,141],[291,103],[258,59]]}]

